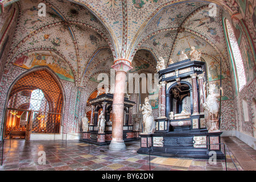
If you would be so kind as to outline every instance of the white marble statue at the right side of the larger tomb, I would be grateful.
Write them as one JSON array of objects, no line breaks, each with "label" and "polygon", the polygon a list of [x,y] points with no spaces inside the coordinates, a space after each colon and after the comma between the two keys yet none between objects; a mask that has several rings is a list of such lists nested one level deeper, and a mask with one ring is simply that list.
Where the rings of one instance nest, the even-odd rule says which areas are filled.
[{"label": "white marble statue at the right side of the larger tomb", "polygon": [[[219,129],[219,112],[220,105],[218,104],[218,98],[220,98],[219,93],[214,93],[215,85],[211,85],[209,88],[209,94],[207,96],[204,106],[204,118],[205,124],[209,133],[220,132]],[[221,93],[223,94],[222,88],[220,88]]]}]

